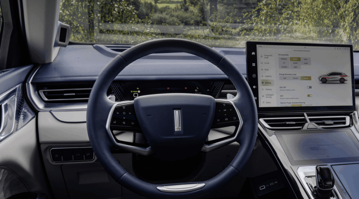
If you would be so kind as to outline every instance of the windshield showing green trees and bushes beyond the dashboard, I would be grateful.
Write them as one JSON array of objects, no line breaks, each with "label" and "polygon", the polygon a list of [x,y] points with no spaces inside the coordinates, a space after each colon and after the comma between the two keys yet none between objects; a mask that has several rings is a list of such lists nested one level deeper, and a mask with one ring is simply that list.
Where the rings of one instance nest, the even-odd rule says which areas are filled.
[{"label": "windshield showing green trees and bushes beyond the dashboard", "polygon": [[138,44],[158,38],[210,47],[248,40],[345,43],[359,49],[357,0],[61,0],[72,42]]}]

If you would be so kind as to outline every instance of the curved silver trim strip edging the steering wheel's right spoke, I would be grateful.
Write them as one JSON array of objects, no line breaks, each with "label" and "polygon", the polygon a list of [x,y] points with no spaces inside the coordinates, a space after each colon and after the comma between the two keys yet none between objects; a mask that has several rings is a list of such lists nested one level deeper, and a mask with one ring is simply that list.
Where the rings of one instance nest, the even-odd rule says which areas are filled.
[{"label": "curved silver trim strip edging the steering wheel's right spoke", "polygon": [[209,151],[213,151],[215,149],[218,149],[222,146],[225,146],[225,145],[228,145],[232,142],[235,142],[237,140],[237,137],[239,135],[239,132],[241,132],[241,129],[242,129],[242,126],[243,126],[243,120],[242,120],[242,117],[241,117],[241,113],[239,113],[239,110],[237,108],[237,106],[230,100],[222,100],[222,99],[216,99],[216,102],[229,102],[233,105],[234,107],[234,110],[236,110],[237,112],[237,115],[238,115],[238,119],[239,119],[239,127],[237,129],[237,131],[235,132],[235,135],[227,140],[222,140],[222,141],[219,141],[219,142],[216,142],[216,143],[213,143],[213,144],[205,144],[201,151],[204,151],[204,152],[209,152]]}]

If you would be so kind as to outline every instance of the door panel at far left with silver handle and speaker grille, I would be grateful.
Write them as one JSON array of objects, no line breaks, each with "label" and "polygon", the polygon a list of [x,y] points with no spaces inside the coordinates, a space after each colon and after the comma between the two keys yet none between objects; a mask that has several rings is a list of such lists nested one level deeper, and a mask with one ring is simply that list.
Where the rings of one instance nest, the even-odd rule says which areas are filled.
[{"label": "door panel at far left with silver handle and speaker grille", "polygon": [[0,71],[0,172],[6,174],[0,175],[0,199],[24,191],[49,195],[38,147],[36,113],[23,89],[32,68],[28,65]]}]

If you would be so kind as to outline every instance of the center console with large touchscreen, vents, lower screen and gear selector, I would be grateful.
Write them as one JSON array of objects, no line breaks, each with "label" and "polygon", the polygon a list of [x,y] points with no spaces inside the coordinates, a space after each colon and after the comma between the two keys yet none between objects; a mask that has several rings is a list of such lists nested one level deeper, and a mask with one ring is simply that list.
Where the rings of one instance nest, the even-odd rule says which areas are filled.
[{"label": "center console with large touchscreen, vents, lower screen and gear selector", "polygon": [[258,135],[297,198],[359,198],[353,48],[247,42]]}]

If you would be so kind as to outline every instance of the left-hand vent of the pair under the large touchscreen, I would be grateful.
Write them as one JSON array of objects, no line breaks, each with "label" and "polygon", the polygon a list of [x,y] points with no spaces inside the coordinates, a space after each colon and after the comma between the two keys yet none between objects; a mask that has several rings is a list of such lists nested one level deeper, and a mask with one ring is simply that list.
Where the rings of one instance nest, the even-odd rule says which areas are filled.
[{"label": "left-hand vent of the pair under the large touchscreen", "polygon": [[300,129],[307,123],[305,117],[272,117],[260,118],[259,121],[269,129],[285,130]]}]

